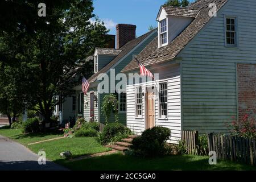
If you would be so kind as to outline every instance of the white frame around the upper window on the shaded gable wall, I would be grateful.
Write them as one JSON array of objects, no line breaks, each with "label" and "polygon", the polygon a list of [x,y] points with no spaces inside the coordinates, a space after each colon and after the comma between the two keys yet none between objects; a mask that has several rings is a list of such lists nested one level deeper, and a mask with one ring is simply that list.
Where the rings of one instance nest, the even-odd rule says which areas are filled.
[{"label": "white frame around the upper window on the shaded gable wall", "polygon": [[[227,30],[226,19],[234,19],[234,31]],[[238,47],[238,18],[236,16],[224,16],[224,26],[225,26],[225,46],[226,47]],[[226,32],[234,32],[234,44],[228,44]]]}]

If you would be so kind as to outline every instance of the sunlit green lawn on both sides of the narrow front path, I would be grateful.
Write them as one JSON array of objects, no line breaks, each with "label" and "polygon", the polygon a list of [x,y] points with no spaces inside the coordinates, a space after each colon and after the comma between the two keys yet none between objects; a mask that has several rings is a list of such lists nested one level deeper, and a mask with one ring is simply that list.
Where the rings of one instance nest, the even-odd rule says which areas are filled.
[{"label": "sunlit green lawn on both sides of the narrow front path", "polygon": [[38,133],[38,134],[22,134],[21,129],[0,129],[0,135],[8,137],[30,148],[31,151],[38,154],[40,150],[46,152],[46,158],[56,163],[65,163],[67,160],[61,158],[60,153],[71,151],[72,157],[75,158],[81,155],[96,154],[99,152],[110,151],[110,148],[101,146],[94,137],[73,137],[51,140],[43,143],[32,144],[28,143],[39,142],[56,137],[63,137],[63,134],[56,133]]}]

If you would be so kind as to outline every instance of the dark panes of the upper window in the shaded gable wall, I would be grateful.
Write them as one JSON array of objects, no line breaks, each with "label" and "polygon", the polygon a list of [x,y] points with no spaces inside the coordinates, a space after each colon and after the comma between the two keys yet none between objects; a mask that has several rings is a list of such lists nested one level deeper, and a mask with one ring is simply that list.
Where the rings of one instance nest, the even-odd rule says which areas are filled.
[{"label": "dark panes of the upper window in the shaded gable wall", "polygon": [[226,44],[236,45],[236,18],[226,18]]}]

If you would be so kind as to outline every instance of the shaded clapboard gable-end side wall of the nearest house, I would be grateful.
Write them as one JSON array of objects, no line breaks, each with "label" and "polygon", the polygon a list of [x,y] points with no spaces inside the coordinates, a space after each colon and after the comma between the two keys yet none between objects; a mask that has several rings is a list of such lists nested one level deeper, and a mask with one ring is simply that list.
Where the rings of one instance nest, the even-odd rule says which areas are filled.
[{"label": "shaded clapboard gable-end side wall of the nearest house", "polygon": [[[237,17],[238,47],[225,47],[225,16]],[[236,64],[256,64],[256,1],[232,0],[181,52],[183,130],[226,133],[237,117]]]}]

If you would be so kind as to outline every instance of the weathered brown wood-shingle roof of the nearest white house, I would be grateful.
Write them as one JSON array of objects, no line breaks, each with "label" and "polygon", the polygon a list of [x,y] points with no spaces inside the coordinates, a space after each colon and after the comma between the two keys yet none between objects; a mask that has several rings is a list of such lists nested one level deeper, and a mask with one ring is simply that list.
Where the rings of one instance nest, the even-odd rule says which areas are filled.
[{"label": "weathered brown wood-shingle roof of the nearest white house", "polygon": [[[171,43],[167,46],[158,48],[158,36],[149,43],[141,53],[137,56],[137,59],[144,65],[152,65],[157,63],[163,63],[174,59],[180,51],[199,33],[199,31],[209,22],[212,18],[209,16],[208,7],[210,3],[217,5],[217,11],[228,0],[198,0],[191,4],[188,9],[200,9],[196,18],[180,33]],[[134,59],[125,67],[121,72],[128,72],[134,69],[138,69],[139,65]]]}]

